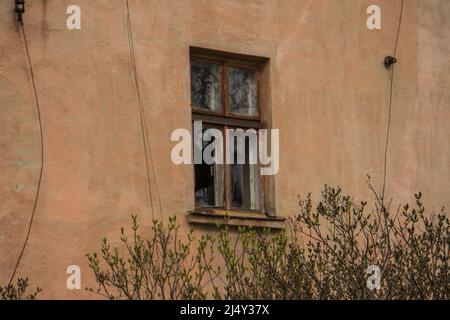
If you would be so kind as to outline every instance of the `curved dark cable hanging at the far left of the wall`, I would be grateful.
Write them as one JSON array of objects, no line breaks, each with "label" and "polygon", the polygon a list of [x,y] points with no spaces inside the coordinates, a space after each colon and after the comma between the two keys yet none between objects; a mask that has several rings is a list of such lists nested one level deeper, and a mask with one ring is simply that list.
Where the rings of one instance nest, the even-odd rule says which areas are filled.
[{"label": "curved dark cable hanging at the far left of the wall", "polygon": [[11,276],[11,279],[9,280],[9,284],[8,285],[11,285],[12,281],[14,280],[14,277],[16,276],[17,269],[19,267],[20,261],[22,260],[23,254],[25,252],[25,248],[26,248],[26,246],[28,244],[28,239],[30,238],[31,227],[33,226],[34,217],[35,217],[35,214],[36,214],[36,208],[37,208],[37,204],[38,204],[38,200],[39,200],[39,193],[40,193],[40,190],[41,190],[42,175],[43,175],[43,169],[44,169],[44,134],[43,134],[43,130],[42,130],[41,108],[40,108],[40,104],[39,104],[39,98],[38,98],[37,89],[36,89],[36,83],[35,83],[35,79],[34,79],[33,65],[31,63],[30,52],[28,50],[28,40],[27,40],[27,36],[26,36],[26,33],[25,33],[25,27],[23,26],[23,22],[20,23],[20,26],[21,26],[21,30],[22,30],[23,41],[24,41],[24,44],[25,44],[25,51],[26,51],[26,55],[27,55],[27,58],[28,58],[28,64],[29,64],[30,74],[31,74],[31,81],[33,83],[34,97],[35,97],[35,100],[36,100],[36,110],[37,110],[37,116],[38,116],[39,135],[40,135],[40,143],[41,143],[41,163],[40,163],[40,169],[39,169],[39,179],[38,179],[38,183],[37,183],[36,196],[35,196],[35,199],[34,199],[33,211],[31,212],[31,217],[30,217],[30,222],[29,222],[29,225],[28,225],[27,235],[25,237],[25,241],[23,243],[22,250],[20,251],[19,257],[17,258],[17,262],[16,262],[16,265],[14,267],[14,271],[12,273],[12,276]]}]

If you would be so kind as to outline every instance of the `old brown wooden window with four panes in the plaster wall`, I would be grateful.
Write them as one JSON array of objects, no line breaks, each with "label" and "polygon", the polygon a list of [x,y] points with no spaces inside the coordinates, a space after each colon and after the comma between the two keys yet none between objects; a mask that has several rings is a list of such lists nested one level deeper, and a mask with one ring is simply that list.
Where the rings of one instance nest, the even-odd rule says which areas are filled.
[{"label": "old brown wooden window with four panes in the plaster wall", "polygon": [[[227,130],[253,131],[257,136],[257,130],[265,128],[261,72],[266,61],[259,57],[191,48],[192,120],[202,121],[201,132],[205,136],[210,131],[207,129],[215,129],[224,137],[222,141],[216,141],[216,137],[205,139],[204,136],[201,147],[197,148],[203,152],[209,144],[220,143],[234,159],[232,164],[208,164],[204,159],[195,164],[197,209],[264,211],[264,177],[260,176],[259,164],[249,161],[250,157],[258,159],[257,150],[250,147],[252,139],[246,135],[243,143],[245,161],[238,161],[237,137],[228,134]],[[227,151],[227,139],[234,139],[233,150]]]}]

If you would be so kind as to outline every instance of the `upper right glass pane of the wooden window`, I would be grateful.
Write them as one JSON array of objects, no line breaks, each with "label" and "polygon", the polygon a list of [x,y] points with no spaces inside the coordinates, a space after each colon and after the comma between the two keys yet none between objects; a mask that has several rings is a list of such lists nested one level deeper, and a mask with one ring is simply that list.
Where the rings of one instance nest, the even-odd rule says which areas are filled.
[{"label": "upper right glass pane of the wooden window", "polygon": [[250,116],[257,114],[258,98],[255,71],[229,67],[228,91],[231,112]]}]

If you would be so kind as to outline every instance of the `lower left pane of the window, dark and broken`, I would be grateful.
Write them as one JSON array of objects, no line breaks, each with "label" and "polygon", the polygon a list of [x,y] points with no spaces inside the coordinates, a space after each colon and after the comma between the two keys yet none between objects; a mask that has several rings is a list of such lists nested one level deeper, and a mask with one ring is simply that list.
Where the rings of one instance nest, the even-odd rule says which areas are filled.
[{"label": "lower left pane of the window, dark and broken", "polygon": [[[206,146],[213,141],[203,141],[202,154]],[[222,164],[195,165],[195,205],[197,207],[223,207],[223,177]]]}]

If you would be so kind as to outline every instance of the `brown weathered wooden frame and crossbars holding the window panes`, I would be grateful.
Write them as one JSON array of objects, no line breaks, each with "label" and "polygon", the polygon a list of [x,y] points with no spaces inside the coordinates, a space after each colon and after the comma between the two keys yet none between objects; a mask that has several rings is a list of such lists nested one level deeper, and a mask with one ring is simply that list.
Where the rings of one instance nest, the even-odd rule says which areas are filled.
[{"label": "brown weathered wooden frame and crossbars holding the window panes", "polygon": [[[226,130],[230,128],[242,128],[242,129],[262,129],[268,128],[267,122],[264,120],[263,108],[262,108],[262,70],[268,61],[266,58],[226,53],[221,51],[191,47],[190,48],[190,60],[192,61],[208,62],[219,64],[222,67],[221,70],[221,109],[220,111],[210,111],[201,108],[196,108],[192,105],[191,100],[191,113],[192,121],[201,120],[208,126],[219,126],[223,132],[224,137],[224,151],[227,145]],[[256,75],[256,90],[257,90],[257,114],[256,115],[242,115],[230,112],[229,95],[228,95],[228,67],[247,68],[255,72]],[[189,69],[190,70],[190,69]],[[224,153],[225,156],[225,153]],[[195,166],[193,168],[193,174],[195,177]],[[231,165],[224,163],[224,195],[223,195],[223,208],[218,207],[197,207],[195,211],[207,212],[207,213],[227,213],[227,212],[239,212],[244,214],[264,214],[266,213],[266,176],[260,175],[259,183],[259,209],[239,209],[232,207],[232,195],[231,195]]]}]

